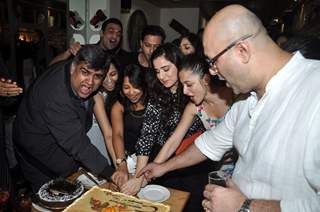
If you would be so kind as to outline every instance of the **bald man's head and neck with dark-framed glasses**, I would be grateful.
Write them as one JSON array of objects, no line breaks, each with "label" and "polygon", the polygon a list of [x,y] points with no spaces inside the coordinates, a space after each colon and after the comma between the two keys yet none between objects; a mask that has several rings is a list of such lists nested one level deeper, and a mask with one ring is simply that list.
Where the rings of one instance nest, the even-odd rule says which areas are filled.
[{"label": "bald man's head and neck with dark-framed glasses", "polygon": [[268,80],[290,58],[268,36],[260,19],[241,5],[227,6],[211,18],[203,46],[210,73],[226,79],[235,93],[254,90],[262,96]]}]

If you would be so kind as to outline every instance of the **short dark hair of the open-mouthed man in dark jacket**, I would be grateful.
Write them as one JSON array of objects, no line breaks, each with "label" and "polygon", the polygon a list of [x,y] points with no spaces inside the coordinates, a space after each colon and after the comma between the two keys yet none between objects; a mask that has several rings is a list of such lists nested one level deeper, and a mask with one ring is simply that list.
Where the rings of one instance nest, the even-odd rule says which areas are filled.
[{"label": "short dark hair of the open-mouthed man in dark jacket", "polygon": [[105,52],[99,45],[95,44],[82,46],[72,60],[75,64],[85,62],[88,65],[88,68],[99,71],[102,70],[104,74],[106,74],[109,69],[110,61],[110,54]]}]

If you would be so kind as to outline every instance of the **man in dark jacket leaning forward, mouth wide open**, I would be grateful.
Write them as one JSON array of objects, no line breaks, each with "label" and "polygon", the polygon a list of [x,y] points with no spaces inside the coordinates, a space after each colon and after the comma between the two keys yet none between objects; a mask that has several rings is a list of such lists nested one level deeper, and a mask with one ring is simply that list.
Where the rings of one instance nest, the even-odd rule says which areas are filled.
[{"label": "man in dark jacket leaning forward, mouth wide open", "polygon": [[14,142],[34,191],[79,166],[105,178],[113,173],[86,135],[92,124],[92,94],[109,64],[110,55],[102,48],[85,45],[72,61],[53,66],[29,88],[18,110]]}]

